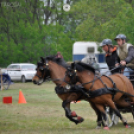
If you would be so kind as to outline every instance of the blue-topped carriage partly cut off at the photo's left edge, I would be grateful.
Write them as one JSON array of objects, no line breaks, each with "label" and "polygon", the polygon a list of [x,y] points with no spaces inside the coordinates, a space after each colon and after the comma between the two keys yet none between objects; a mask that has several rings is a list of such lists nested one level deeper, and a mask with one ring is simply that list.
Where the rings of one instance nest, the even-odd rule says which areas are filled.
[{"label": "blue-topped carriage partly cut off at the photo's left edge", "polygon": [[3,73],[0,75],[0,88],[2,86],[5,90],[7,90],[11,84],[13,84],[13,82],[8,74]]}]

